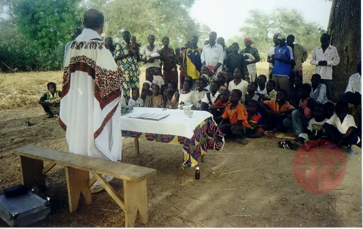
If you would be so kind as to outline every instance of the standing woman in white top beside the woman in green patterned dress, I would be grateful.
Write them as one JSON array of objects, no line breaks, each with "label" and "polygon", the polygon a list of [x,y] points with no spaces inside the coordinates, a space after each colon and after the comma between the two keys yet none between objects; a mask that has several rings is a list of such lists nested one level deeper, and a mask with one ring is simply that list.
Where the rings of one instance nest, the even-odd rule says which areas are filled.
[{"label": "standing woman in white top beside the woman in green patterned dress", "polygon": [[157,44],[154,44],[155,36],[152,34],[149,35],[148,42],[149,42],[149,45],[143,46],[140,51],[140,55],[143,56],[143,58],[140,59],[140,61],[145,63],[146,75],[148,75],[148,73],[153,74],[152,67],[159,68],[159,72],[161,72],[161,69],[160,69],[161,56],[158,53],[158,51],[160,50],[160,46]]}]

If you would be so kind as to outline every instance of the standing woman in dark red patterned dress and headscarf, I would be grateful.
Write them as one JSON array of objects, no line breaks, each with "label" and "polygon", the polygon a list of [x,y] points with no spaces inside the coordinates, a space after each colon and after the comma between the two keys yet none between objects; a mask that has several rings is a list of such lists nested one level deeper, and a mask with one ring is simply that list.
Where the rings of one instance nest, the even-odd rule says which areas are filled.
[{"label": "standing woman in dark red patterned dress and headscarf", "polygon": [[170,82],[178,83],[178,71],[175,60],[174,49],[169,47],[170,39],[163,37],[162,43],[164,47],[159,51],[163,62],[164,82],[167,85]]}]

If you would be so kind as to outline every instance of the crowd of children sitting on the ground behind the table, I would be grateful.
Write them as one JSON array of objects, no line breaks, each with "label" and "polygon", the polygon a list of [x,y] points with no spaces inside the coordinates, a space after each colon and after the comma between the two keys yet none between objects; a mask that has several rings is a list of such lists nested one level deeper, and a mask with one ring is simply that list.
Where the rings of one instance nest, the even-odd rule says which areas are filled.
[{"label": "crowd of children sitting on the ground behind the table", "polygon": [[[247,144],[246,138],[258,138],[263,133],[273,137],[277,132],[292,132],[300,146],[313,139],[327,139],[350,148],[360,142],[348,104],[334,105],[327,100],[326,93],[320,93],[318,74],[312,76],[311,84],[303,83],[301,76],[295,77],[294,88],[287,95],[284,90],[275,91],[275,81],[265,75],[247,82],[242,79],[243,70],[236,68],[233,80],[227,82],[227,73],[211,76],[203,67],[199,79],[185,77],[180,92],[174,82],[166,87],[155,69],[143,83],[141,96],[134,91],[128,105],[168,109],[187,105],[209,111],[224,136],[236,138],[242,145]],[[281,141],[280,147],[292,148],[286,142]]]}]

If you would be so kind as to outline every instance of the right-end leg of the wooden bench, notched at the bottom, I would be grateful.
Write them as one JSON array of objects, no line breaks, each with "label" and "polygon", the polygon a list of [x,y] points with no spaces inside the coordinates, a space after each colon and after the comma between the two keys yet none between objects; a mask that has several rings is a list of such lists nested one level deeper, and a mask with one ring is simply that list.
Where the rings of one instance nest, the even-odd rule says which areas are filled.
[{"label": "right-end leg of the wooden bench, notched at the bottom", "polygon": [[140,222],[148,222],[148,197],[146,180],[140,182],[124,181],[125,226],[134,227],[137,213]]}]

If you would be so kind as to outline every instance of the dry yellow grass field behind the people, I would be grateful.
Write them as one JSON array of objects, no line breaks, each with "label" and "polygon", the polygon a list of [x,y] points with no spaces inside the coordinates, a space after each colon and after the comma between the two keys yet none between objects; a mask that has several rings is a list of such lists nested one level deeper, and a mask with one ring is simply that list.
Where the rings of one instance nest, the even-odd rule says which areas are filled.
[{"label": "dry yellow grass field behind the people", "polygon": [[[268,63],[257,63],[258,74],[268,75]],[[304,81],[308,82],[313,66],[304,64]],[[38,105],[39,98],[46,92],[46,84],[55,82],[62,87],[62,71],[21,72],[0,74],[0,110],[30,108]],[[145,69],[141,68],[140,85],[145,80]]]}]

